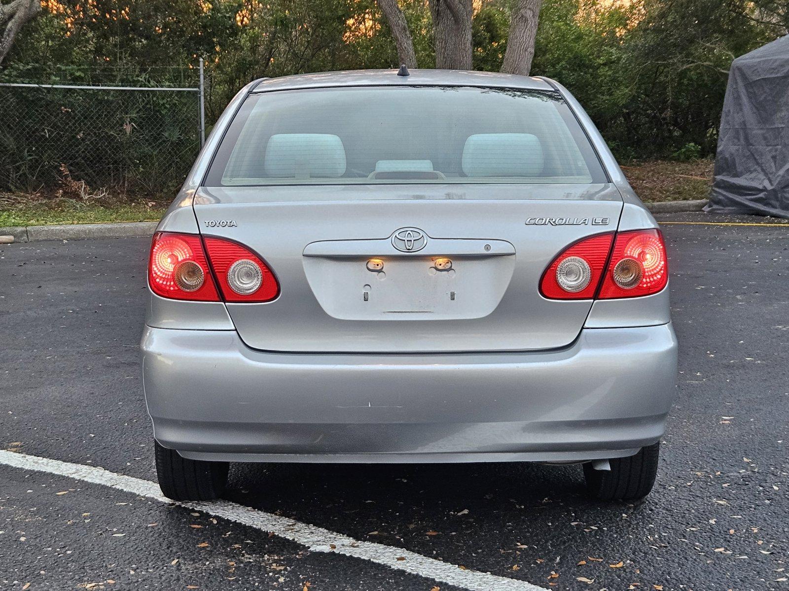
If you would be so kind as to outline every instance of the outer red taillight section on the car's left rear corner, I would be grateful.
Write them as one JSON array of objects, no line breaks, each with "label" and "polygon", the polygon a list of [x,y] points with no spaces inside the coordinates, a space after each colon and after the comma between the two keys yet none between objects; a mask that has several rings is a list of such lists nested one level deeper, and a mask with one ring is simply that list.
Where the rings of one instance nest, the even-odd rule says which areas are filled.
[{"label": "outer red taillight section on the car's left rear corner", "polygon": [[200,236],[156,233],[148,261],[148,284],[163,298],[219,302]]}]

